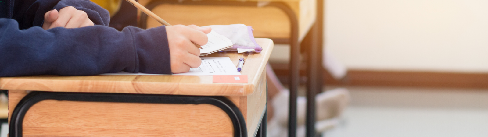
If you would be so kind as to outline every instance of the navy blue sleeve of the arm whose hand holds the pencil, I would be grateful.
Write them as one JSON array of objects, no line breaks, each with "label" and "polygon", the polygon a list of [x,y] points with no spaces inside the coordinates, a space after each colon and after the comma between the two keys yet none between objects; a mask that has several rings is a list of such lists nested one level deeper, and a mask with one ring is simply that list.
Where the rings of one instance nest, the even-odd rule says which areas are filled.
[{"label": "navy blue sleeve of the arm whose hand holds the pencil", "polygon": [[0,43],[0,77],[171,74],[164,26],[121,32],[102,25],[20,30],[16,20],[0,19]]}]

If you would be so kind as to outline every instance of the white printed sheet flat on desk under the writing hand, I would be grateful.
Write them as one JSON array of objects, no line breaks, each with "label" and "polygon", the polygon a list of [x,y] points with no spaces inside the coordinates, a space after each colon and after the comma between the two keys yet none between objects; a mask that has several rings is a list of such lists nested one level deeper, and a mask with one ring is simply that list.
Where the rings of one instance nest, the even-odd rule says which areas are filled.
[{"label": "white printed sheet flat on desk under the writing hand", "polygon": [[[241,75],[237,67],[232,63],[229,57],[200,57],[202,64],[198,68],[192,68],[187,73],[178,73],[173,75]],[[105,73],[101,75],[163,75],[163,74],[146,74],[146,73]]]}]

